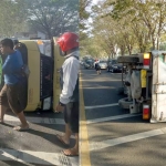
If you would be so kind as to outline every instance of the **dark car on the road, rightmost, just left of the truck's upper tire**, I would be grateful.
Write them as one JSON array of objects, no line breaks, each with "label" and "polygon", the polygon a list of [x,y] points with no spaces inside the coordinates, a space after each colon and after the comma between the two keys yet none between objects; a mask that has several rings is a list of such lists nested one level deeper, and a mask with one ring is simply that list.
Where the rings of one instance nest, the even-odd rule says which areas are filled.
[{"label": "dark car on the road, rightmost, just left of the truck's upper tire", "polygon": [[122,63],[118,63],[117,60],[110,60],[107,63],[107,72],[122,72],[122,70],[125,70],[125,66],[123,66]]}]

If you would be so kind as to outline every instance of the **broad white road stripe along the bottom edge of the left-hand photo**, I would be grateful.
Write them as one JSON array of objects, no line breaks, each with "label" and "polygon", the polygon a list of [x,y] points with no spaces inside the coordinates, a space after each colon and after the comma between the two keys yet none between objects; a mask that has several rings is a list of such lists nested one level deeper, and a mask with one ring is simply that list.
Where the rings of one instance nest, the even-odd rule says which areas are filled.
[{"label": "broad white road stripe along the bottom edge of the left-hand photo", "polygon": [[[44,153],[0,148],[0,160],[15,160],[27,165],[77,166],[79,157],[66,157],[62,153]],[[31,165],[32,166],[32,165]]]}]

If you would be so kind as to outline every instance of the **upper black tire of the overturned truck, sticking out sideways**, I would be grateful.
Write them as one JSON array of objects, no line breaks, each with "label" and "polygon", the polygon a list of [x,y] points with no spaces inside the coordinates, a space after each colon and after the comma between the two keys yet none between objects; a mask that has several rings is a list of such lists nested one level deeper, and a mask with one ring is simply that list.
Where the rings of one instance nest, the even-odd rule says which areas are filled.
[{"label": "upper black tire of the overturned truck, sticking out sideways", "polygon": [[133,56],[133,55],[118,56],[117,62],[118,63],[137,63],[137,62],[139,62],[139,59],[137,56]]}]

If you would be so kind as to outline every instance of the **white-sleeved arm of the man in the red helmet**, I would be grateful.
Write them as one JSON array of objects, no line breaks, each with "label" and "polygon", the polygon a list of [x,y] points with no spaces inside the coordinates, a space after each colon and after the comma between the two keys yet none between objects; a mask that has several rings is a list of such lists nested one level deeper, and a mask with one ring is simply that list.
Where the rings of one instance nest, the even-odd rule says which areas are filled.
[{"label": "white-sleeved arm of the man in the red helmet", "polygon": [[60,103],[68,104],[70,102],[76,85],[79,69],[77,60],[69,61],[63,66],[63,90],[60,95]]}]

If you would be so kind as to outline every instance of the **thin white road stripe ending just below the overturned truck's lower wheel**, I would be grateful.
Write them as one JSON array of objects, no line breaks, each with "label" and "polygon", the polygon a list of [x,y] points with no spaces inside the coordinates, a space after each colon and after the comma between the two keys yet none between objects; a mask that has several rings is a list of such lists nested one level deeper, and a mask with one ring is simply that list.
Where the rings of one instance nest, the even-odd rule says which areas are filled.
[{"label": "thin white road stripe ending just below the overturned truck's lower wheel", "polygon": [[114,121],[114,120],[121,120],[121,118],[128,118],[134,116],[139,116],[142,114],[124,114],[124,115],[117,115],[117,116],[110,116],[110,117],[102,117],[102,118],[94,118],[86,121],[86,124],[93,124],[93,123],[100,123],[105,121]]}]

